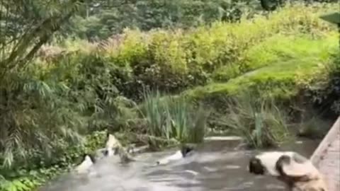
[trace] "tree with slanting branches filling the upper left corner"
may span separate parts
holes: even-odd
[[[25,66],[77,11],[79,0],[2,0],[0,78]]]

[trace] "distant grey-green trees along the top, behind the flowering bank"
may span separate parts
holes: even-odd
[[[124,28],[192,28],[214,21],[237,21],[254,1],[227,0],[94,0],[80,11],[65,33],[88,40],[106,39]],[[257,7],[256,7],[257,8]]]

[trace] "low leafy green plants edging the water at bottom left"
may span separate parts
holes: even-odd
[[[0,168],[1,191],[29,191],[35,190],[48,180],[72,170],[74,163],[80,162],[83,154],[91,153],[103,147],[106,141],[106,132],[93,132],[86,136],[84,143],[65,145],[60,152],[54,154],[55,161],[45,161],[45,156],[39,152],[28,159],[28,166],[13,166]],[[35,161],[38,160],[38,161]],[[37,166],[38,165],[38,166]]]

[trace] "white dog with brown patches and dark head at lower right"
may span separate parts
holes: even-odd
[[[272,151],[252,157],[249,173],[270,175],[291,191],[328,191],[323,175],[312,162],[293,151]]]

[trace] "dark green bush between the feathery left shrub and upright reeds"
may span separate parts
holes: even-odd
[[[122,122],[118,118],[128,115],[125,112],[134,106],[126,103],[129,100],[120,99],[118,90],[128,81],[130,71],[113,63],[99,47],[92,52],[69,54],[59,61],[50,65],[46,75],[69,88],[63,96],[77,104],[76,109],[86,121],[87,132],[119,130]]]

